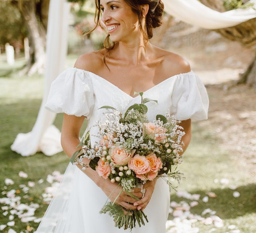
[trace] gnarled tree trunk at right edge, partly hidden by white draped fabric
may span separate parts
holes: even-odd
[[[224,12],[223,0],[200,0],[204,5],[213,10]],[[222,7],[221,7],[222,5]],[[215,29],[213,31],[221,34],[225,38],[238,41],[245,47],[252,47],[256,45],[256,18],[243,22],[237,26]],[[256,56],[252,63],[248,66],[247,70],[240,74],[237,84],[248,84],[249,86],[256,87]]]

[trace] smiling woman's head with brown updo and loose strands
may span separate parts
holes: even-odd
[[[153,37],[153,29],[162,25],[164,4],[161,0],[95,0],[95,5],[94,21],[96,25],[92,30],[85,32],[84,35],[93,32],[98,26],[108,33],[101,47],[101,49],[106,49],[103,57],[106,66],[105,59],[110,50],[115,47],[121,37],[131,37],[131,32],[136,31],[136,23],[138,23],[145,42]],[[143,13],[143,5],[148,5],[147,14]],[[116,22],[116,20],[119,22]],[[100,22],[105,24],[105,27]],[[121,32],[117,35],[117,31]]]

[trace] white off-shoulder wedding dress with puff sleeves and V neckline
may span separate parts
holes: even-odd
[[[141,90],[137,90],[141,91]],[[170,113],[179,120],[207,119],[209,99],[202,81],[193,72],[174,75],[144,92],[148,102],[148,119],[157,114]],[[135,98],[108,82],[104,78],[81,69],[68,68],[53,81],[46,108],[56,113],[86,116],[87,129],[91,127],[91,143],[98,138],[95,120],[104,117],[109,105],[124,113],[130,105],[140,103]],[[103,119],[104,120],[104,119]],[[85,132],[87,132],[87,129]],[[105,193],[75,165],[69,163],[60,187],[52,199],[38,229],[38,233],[120,233],[108,214],[99,214],[107,200]],[[170,193],[168,184],[161,178],[156,182],[152,198],[144,212],[149,222],[136,227],[133,233],[165,233],[168,218]]]

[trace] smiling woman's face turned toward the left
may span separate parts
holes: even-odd
[[[100,0],[102,23],[113,42],[128,42],[140,33],[138,16],[125,0]]]

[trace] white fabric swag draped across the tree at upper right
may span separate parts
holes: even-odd
[[[232,27],[256,18],[256,10],[253,8],[218,12],[198,0],[162,0],[162,2],[166,13],[185,23],[205,29]],[[249,2],[254,3],[256,8],[256,0]]]

